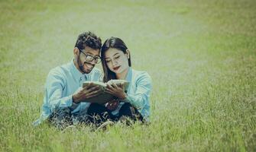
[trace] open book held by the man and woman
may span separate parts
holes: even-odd
[[[125,81],[125,80],[110,80],[106,83],[103,83],[103,82],[100,82],[100,81],[84,81],[83,82],[83,87],[86,87],[86,85],[89,85],[90,83],[99,85],[101,92],[99,93],[98,96],[91,97],[91,98],[89,98],[87,100],[84,100],[82,102],[105,104],[105,103],[115,99],[115,97],[112,96],[112,94],[109,94],[109,93],[105,92],[105,88],[107,87],[107,84],[116,84],[117,86],[120,86],[121,84],[124,84],[125,93],[127,92],[128,87],[129,87],[129,82]]]

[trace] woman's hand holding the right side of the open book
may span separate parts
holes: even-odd
[[[126,95],[124,84],[120,84],[120,86],[117,86],[116,84],[107,84],[105,92],[110,93],[115,97],[118,97],[119,100],[124,100]]]

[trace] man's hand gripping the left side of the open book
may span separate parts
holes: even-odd
[[[86,100],[91,97],[96,97],[100,93],[100,87],[96,84],[89,84],[83,87],[78,93],[73,94],[73,103],[79,103],[80,101]]]

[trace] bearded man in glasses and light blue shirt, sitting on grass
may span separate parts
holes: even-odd
[[[99,87],[90,84],[82,88],[82,84],[83,81],[99,81],[101,72],[94,67],[100,62],[101,46],[101,39],[94,33],[79,34],[73,60],[53,68],[47,76],[41,118],[34,125],[46,119],[57,128],[92,122],[86,114],[90,103],[81,101],[97,96]]]

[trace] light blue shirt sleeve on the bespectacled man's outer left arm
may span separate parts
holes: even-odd
[[[50,72],[45,84],[45,100],[51,111],[57,108],[72,106],[72,95],[63,97],[63,89],[66,86],[61,74]]]

